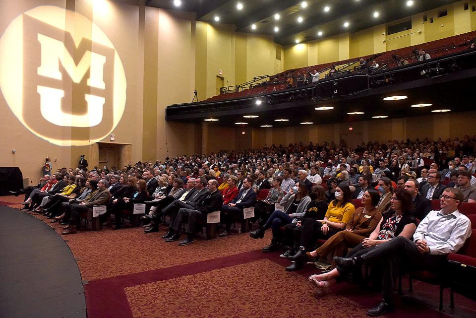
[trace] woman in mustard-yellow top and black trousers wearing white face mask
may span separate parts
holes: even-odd
[[[295,244],[299,245],[298,252],[288,258],[295,262],[287,271],[295,271],[304,267],[307,251],[314,250],[316,239],[329,239],[334,234],[344,230],[354,214],[355,207],[351,203],[352,193],[349,186],[340,184],[334,193],[336,199],[329,203],[323,219],[306,218],[300,231],[295,234]]]

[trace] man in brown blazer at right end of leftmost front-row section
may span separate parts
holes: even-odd
[[[89,208],[92,208],[95,205],[105,205],[109,202],[111,198],[111,193],[108,191],[109,183],[106,179],[101,179],[98,182],[98,190],[96,193],[91,195],[90,199],[85,199],[81,203],[70,204],[69,208],[71,215],[69,217],[69,223],[65,227],[64,231],[61,232],[61,235],[75,234],[76,233],[76,224],[78,222],[79,214],[81,212],[87,212]]]

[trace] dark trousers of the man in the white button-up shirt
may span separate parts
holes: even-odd
[[[442,273],[447,264],[447,255],[421,254],[416,249],[415,243],[403,236],[397,236],[370,249],[363,249],[359,244],[354,250],[350,256],[361,256],[372,268],[375,266],[380,269],[382,296],[387,302],[392,301],[397,278],[404,270],[430,269]],[[337,270],[341,273],[342,268],[337,266]]]

